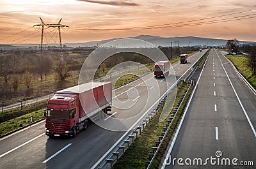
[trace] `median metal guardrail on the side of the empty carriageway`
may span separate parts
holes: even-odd
[[[156,147],[152,147],[153,152],[148,154],[150,160],[145,161],[145,168],[149,169],[152,166],[152,163],[153,163],[154,159],[156,158],[157,152],[159,151],[162,143],[164,142],[164,138],[166,137],[169,129],[171,128],[173,121],[174,121],[175,117],[177,116],[177,112],[179,112],[180,107],[181,107],[184,99],[186,98],[186,96],[188,94],[188,90],[192,84],[193,84],[193,80],[191,80],[190,84],[188,85],[188,87],[186,88],[184,93],[182,94],[182,98],[180,98],[179,102],[177,103],[176,107],[174,108],[174,110],[171,114],[171,117],[167,121],[168,123],[165,124],[165,128],[163,128],[163,131],[161,132],[161,136],[159,136],[159,138],[158,138],[159,140],[158,140],[158,142],[156,142]]]

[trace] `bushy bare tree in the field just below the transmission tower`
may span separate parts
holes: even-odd
[[[69,76],[69,68],[65,61],[56,61],[54,64],[55,77],[58,81],[64,81]]]

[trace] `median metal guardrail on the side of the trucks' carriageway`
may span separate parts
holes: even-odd
[[[122,143],[120,143],[120,145],[118,145],[118,147],[116,147],[114,151],[111,152],[108,158],[99,166],[99,169],[113,168],[114,163],[116,163],[118,159],[124,155],[125,151],[129,149],[131,143],[134,142],[134,139],[136,139],[138,135],[141,134],[141,131],[145,129],[145,127],[159,112],[159,110],[164,107],[166,99],[172,94],[172,92],[177,87],[177,85],[179,85],[179,83],[180,81],[177,82],[177,84],[174,85],[171,89],[166,91],[166,94],[164,94],[164,96],[159,99],[159,102],[148,112],[147,115],[145,115],[145,117],[140,121],[138,126],[129,133],[129,135],[124,139]]]

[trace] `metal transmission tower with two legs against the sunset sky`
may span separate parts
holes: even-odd
[[[58,22],[58,24],[45,24],[44,20],[42,20],[41,17],[39,17],[40,20],[41,20],[41,24],[36,24],[35,26],[40,26],[42,27],[42,33],[41,33],[41,45],[40,45],[40,50],[42,52],[43,50],[43,40],[44,40],[44,27],[58,27],[58,32],[59,32],[59,38],[60,38],[60,52],[61,52],[61,59],[63,59],[63,52],[62,52],[62,43],[61,43],[61,32],[60,32],[60,28],[62,27],[68,27],[68,26],[65,26],[63,24],[60,24],[61,22],[61,19],[60,18],[60,21]]]

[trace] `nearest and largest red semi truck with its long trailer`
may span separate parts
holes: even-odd
[[[88,118],[111,110],[112,83],[90,82],[54,92],[45,111],[45,134],[69,136],[88,128]]]

